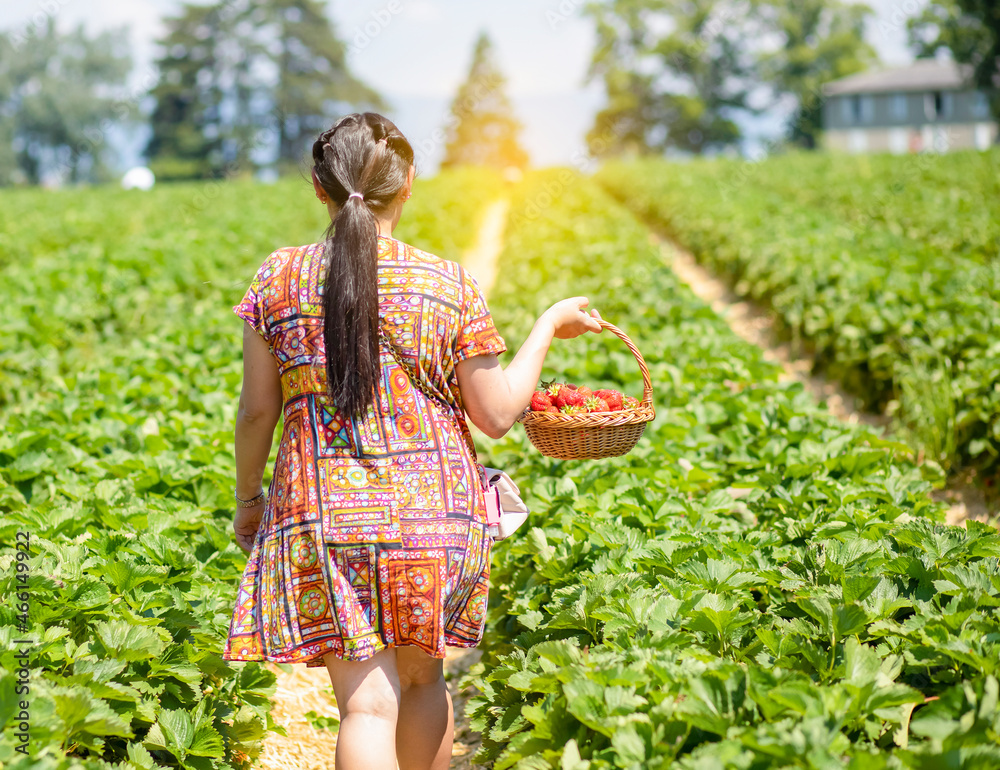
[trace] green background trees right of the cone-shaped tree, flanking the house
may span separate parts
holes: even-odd
[[[846,0],[609,0],[589,3],[597,27],[590,77],[607,106],[588,136],[598,155],[717,151],[740,118],[784,105],[784,141],[818,145],[823,85],[877,64],[864,33],[874,14]],[[973,65],[1000,121],[1000,4],[932,2],[905,20],[918,56],[947,51]]]

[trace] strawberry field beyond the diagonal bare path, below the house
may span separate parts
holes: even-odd
[[[602,184],[772,308],[928,459],[1000,472],[1000,152],[614,165]]]

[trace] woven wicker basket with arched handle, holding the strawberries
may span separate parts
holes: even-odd
[[[590,414],[552,414],[530,412],[521,415],[520,422],[535,449],[557,460],[599,460],[618,457],[630,452],[639,442],[646,423],[656,416],[653,409],[653,383],[649,378],[642,353],[621,329],[601,321],[628,346],[639,362],[642,372],[642,401],[634,409],[620,412],[593,412]]]

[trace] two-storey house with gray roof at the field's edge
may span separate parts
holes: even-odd
[[[823,141],[842,152],[985,150],[997,141],[989,99],[970,86],[972,69],[917,59],[824,87]]]

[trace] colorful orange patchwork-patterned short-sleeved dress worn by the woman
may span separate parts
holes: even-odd
[[[223,657],[323,665],[413,645],[474,647],[491,540],[455,366],[506,349],[459,265],[379,237],[379,312],[430,399],[385,349],[378,407],[327,396],[323,244],[284,248],[234,308],[278,361],[284,429]]]

